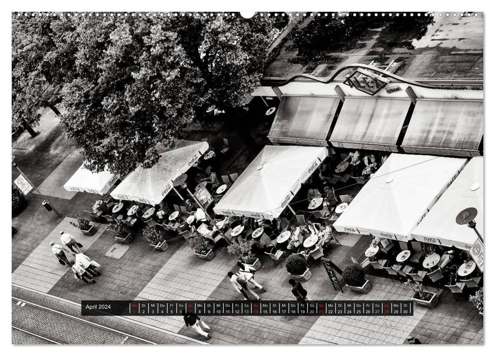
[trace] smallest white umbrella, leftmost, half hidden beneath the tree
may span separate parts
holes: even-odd
[[[118,178],[118,175],[107,170],[93,173],[84,168],[83,163],[64,184],[64,189],[69,192],[88,192],[103,195],[109,191]]]

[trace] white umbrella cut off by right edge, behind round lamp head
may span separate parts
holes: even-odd
[[[467,207],[478,210],[476,228],[483,235],[483,157],[474,157],[412,231],[415,240],[469,250],[478,236],[467,225],[458,225],[457,214]]]

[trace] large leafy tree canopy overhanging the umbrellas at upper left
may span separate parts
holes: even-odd
[[[30,89],[28,100],[28,86],[50,84],[88,168],[121,175],[156,163],[155,145],[172,144],[212,101],[242,106],[278,31],[266,16],[102,15],[14,17],[12,46],[22,55],[13,56],[13,91],[26,105],[42,89]],[[31,115],[20,101],[13,94],[13,111]]]

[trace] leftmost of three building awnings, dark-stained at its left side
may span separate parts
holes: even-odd
[[[328,146],[338,97],[282,96],[268,138],[272,143]]]

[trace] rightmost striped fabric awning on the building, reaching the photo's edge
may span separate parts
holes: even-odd
[[[418,99],[402,141],[405,152],[479,156],[483,101]]]

